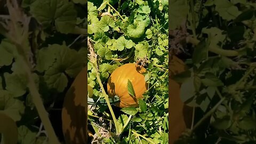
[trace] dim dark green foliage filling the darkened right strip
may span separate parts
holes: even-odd
[[[188,40],[175,32],[170,46],[181,50],[175,41],[192,50],[185,53],[188,71],[174,79],[182,83],[182,101],[198,108],[192,131],[177,143],[255,143],[255,3],[170,3],[171,33],[186,33]]]

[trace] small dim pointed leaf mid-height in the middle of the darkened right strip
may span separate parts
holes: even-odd
[[[206,73],[205,78],[201,79],[202,83],[206,86],[223,86],[221,80],[212,73]]]

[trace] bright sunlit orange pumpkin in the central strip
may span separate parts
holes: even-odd
[[[148,83],[142,75],[147,70],[137,66],[135,63],[126,63],[125,65],[116,68],[110,75],[107,83],[108,95],[114,98],[117,95],[120,102],[116,103],[117,107],[138,107],[138,101],[142,98],[142,94],[148,88]],[[127,83],[131,81],[135,97],[129,94]]]

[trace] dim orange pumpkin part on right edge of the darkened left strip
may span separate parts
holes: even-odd
[[[87,67],[69,87],[62,108],[62,131],[66,143],[87,142]]]

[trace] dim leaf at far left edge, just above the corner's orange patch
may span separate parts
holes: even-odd
[[[0,90],[0,111],[17,122],[20,121],[21,115],[25,111],[25,106],[22,101],[15,99],[11,92]]]

